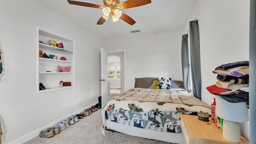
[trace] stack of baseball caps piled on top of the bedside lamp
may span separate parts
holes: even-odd
[[[222,64],[212,71],[217,82],[206,89],[229,102],[247,102],[249,105],[249,61]]]

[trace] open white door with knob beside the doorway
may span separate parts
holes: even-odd
[[[101,106],[102,108],[106,105],[110,99],[109,88],[108,88],[108,53],[106,50],[101,48]]]

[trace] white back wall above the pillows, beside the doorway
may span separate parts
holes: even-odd
[[[125,49],[126,90],[134,88],[135,78],[169,77],[182,80],[181,68],[182,30],[150,33],[146,35],[115,37],[104,39],[106,50]],[[130,71],[129,73],[127,71]]]

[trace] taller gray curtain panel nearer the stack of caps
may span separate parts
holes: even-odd
[[[200,66],[200,45],[198,20],[189,22],[190,30],[190,57],[193,94],[201,100],[201,66]]]

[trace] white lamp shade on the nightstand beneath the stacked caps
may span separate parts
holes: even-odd
[[[216,116],[232,122],[248,122],[246,102],[228,102],[216,95]]]

